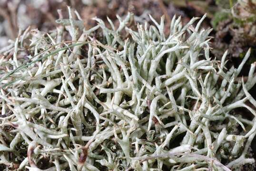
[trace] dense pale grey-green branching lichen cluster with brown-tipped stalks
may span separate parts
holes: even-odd
[[[0,163],[30,171],[230,171],[253,163],[256,116],[240,66],[209,57],[206,17],[128,27],[133,15],[91,29],[20,31],[0,50]],[[61,16],[61,15],[60,15]],[[81,20],[81,19],[80,19]],[[94,32],[97,36],[93,36]],[[126,38],[125,38],[126,37]],[[128,38],[129,37],[129,38]],[[241,128],[243,131],[237,131]],[[48,161],[42,166],[41,161]],[[45,168],[46,167],[46,168]],[[43,168],[43,169],[42,169]]]

